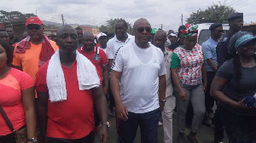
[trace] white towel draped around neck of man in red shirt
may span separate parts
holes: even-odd
[[[76,54],[79,90],[99,87],[100,79],[97,75],[96,67],[83,54],[79,54],[78,50]],[[51,102],[67,100],[66,82],[61,67],[59,49],[56,50],[49,60],[46,83]]]

